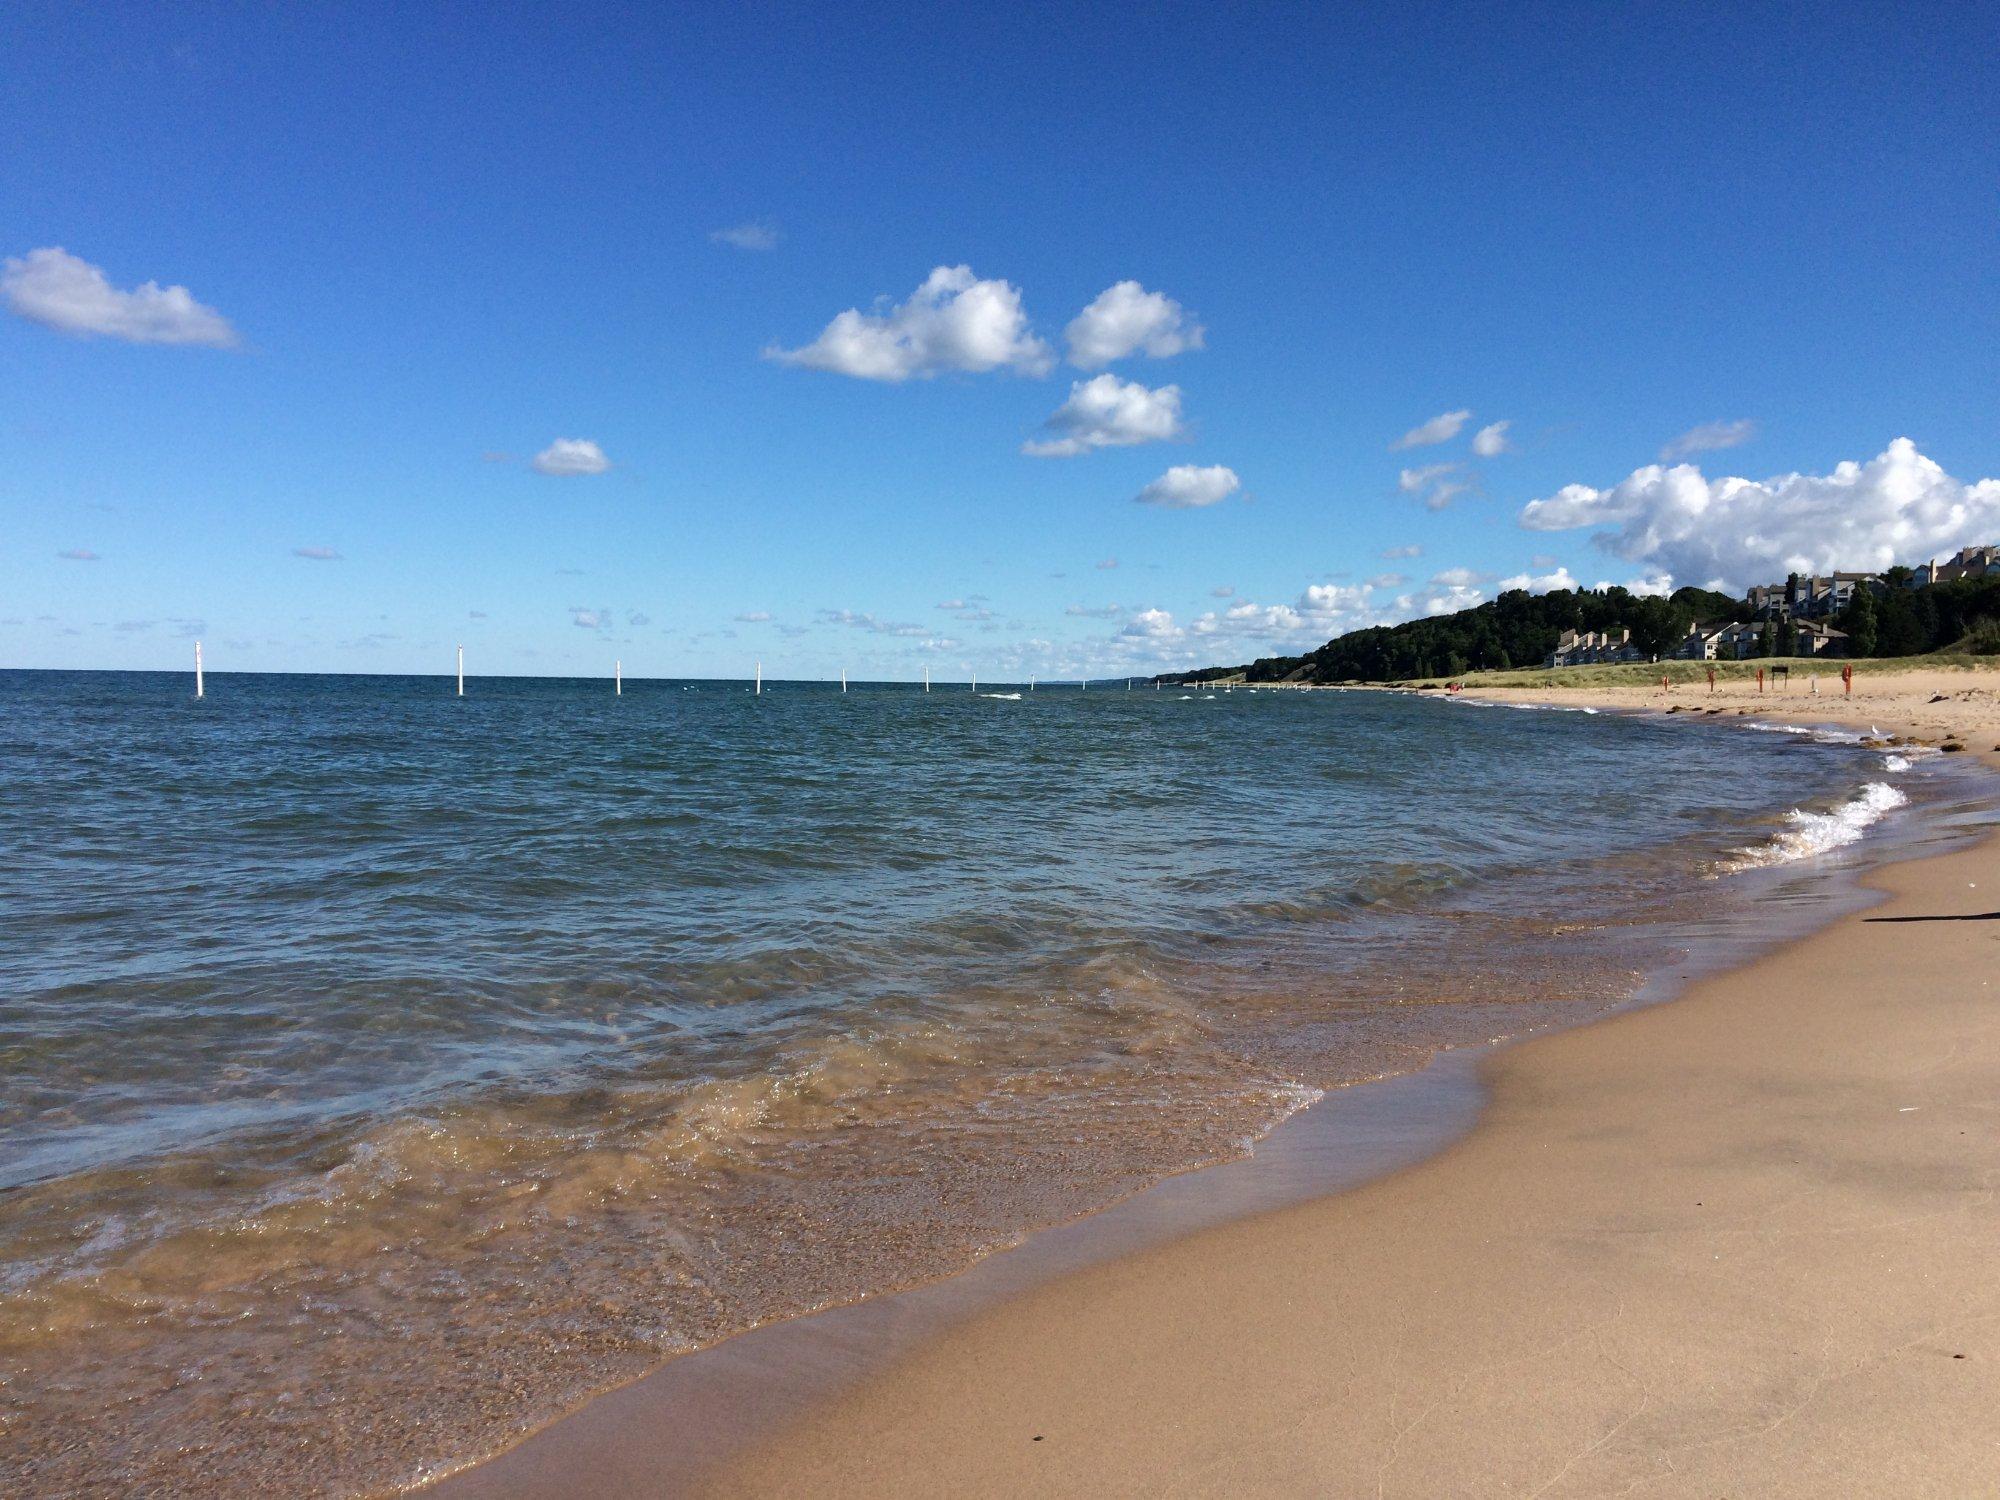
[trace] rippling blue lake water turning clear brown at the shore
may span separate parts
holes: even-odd
[[[0,674],[0,1488],[488,1452],[1616,1004],[1938,800],[1892,764],[1384,694]]]

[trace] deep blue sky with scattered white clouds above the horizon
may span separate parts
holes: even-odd
[[[2000,8],[8,32],[0,666],[1120,676],[2000,542]]]

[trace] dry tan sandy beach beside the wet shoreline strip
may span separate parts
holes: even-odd
[[[1522,696],[1868,722],[1992,760],[1984,676],[1824,688]],[[1870,884],[1880,906],[1672,1004],[1500,1050],[1476,1128],[1430,1160],[1028,1290],[694,1488],[2000,1490],[2000,840]],[[628,1404],[590,1460],[470,1492],[682,1492],[634,1462],[674,1416]]]

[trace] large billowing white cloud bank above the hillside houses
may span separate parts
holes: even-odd
[[[1708,480],[1694,464],[1634,470],[1610,490],[1566,484],[1532,500],[1536,532],[1604,526],[1592,542],[1652,576],[1730,588],[1788,572],[1874,570],[1924,562],[2000,538],[2000,478],[1962,482],[1896,438],[1832,474]]]

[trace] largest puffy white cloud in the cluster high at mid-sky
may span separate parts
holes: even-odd
[[[876,312],[848,308],[804,348],[764,358],[860,380],[900,382],[940,370],[1048,374],[1054,350],[1028,326],[1020,292],[982,282],[970,266],[938,266],[908,302]]]

